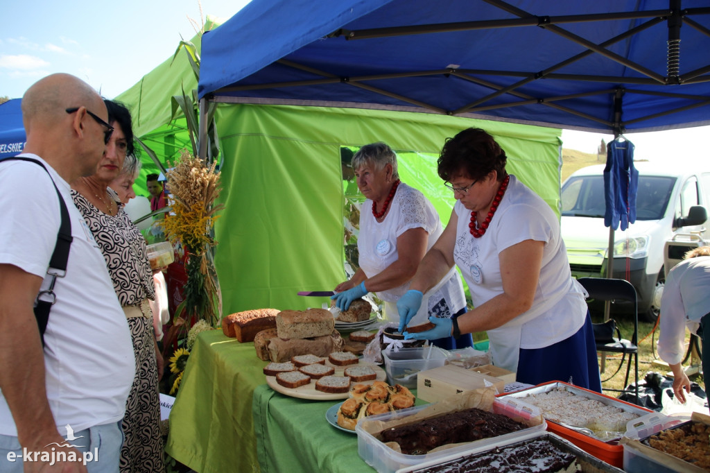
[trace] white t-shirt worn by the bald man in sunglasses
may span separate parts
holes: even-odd
[[[70,186],[42,163],[51,179],[35,163],[0,162],[0,263],[45,277],[61,221],[54,180],[69,211],[73,238],[67,274],[55,283],[57,301],[44,335],[47,397],[63,435],[67,424],[77,431],[123,418],[136,361],[104,256],[72,202]],[[42,289],[47,287],[45,278]],[[0,434],[17,435],[1,393]]]

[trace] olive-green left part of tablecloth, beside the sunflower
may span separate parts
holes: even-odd
[[[200,473],[258,472],[251,396],[263,366],[253,343],[200,333],[170,412],[168,454]]]

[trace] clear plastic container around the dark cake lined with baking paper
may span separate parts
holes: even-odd
[[[355,428],[355,432],[357,433],[357,450],[360,457],[379,473],[394,473],[401,468],[411,467],[423,462],[441,460],[450,455],[460,455],[463,452],[470,452],[475,449],[492,448],[526,440],[544,433],[545,428],[547,428],[547,423],[545,420],[542,420],[540,411],[537,408],[513,398],[496,398],[495,401],[493,401],[493,412],[507,415],[508,417],[519,417],[523,418],[523,420],[528,419],[531,424],[535,424],[536,421],[540,422],[540,420],[541,423],[519,430],[518,432],[468,442],[458,447],[449,448],[442,452],[430,453],[428,455],[405,455],[395,452],[383,442],[373,437],[373,435],[368,433],[364,428],[369,423],[388,422],[390,420],[415,415],[429,406],[432,406],[432,404],[372,415],[360,420]]]

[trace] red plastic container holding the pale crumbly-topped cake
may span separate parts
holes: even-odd
[[[533,388],[528,388],[523,391],[503,394],[502,396],[513,396],[515,398],[520,398],[522,401],[525,401],[525,396],[528,396],[529,394],[546,393],[547,391],[552,391],[559,388],[570,391],[571,393],[574,393],[577,396],[584,396],[586,398],[594,399],[595,401],[599,401],[603,404],[606,404],[607,406],[620,408],[622,411],[638,414],[639,418],[652,412],[646,408],[620,401],[617,398],[605,396],[604,394],[589,391],[589,389],[580,388],[579,386],[567,384],[562,381],[551,381],[549,383],[539,384]],[[543,412],[542,415],[545,415],[545,413]],[[562,427],[562,425],[559,425],[558,423],[555,423],[552,420],[547,421],[547,426],[547,430],[549,430],[550,432],[556,433],[560,437],[569,440],[585,452],[588,452],[591,455],[594,455],[594,457],[599,458],[599,460],[603,460],[604,462],[612,464],[613,466],[618,468],[623,467],[623,447],[619,445],[621,435],[617,438],[603,441],[596,437],[579,433],[576,430]]]

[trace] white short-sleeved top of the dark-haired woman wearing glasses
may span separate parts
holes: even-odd
[[[525,240],[545,242],[532,307],[503,325],[523,322],[520,348],[548,347],[574,335],[584,325],[584,290],[569,270],[557,215],[540,196],[510,175],[506,194],[481,238],[469,232],[471,211],[460,201],[454,211],[458,216],[454,261],[469,285],[474,307],[503,293],[498,259],[501,251]],[[488,332],[490,335],[493,330]]]

